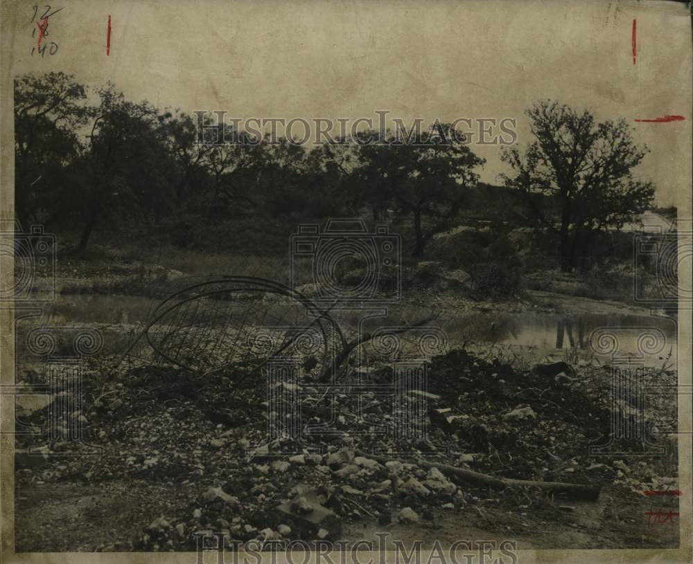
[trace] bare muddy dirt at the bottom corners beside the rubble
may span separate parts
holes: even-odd
[[[188,507],[181,489],[147,481],[34,485],[21,489],[16,503],[17,552],[132,549],[132,539],[148,523]],[[678,511],[671,498],[660,504],[607,489],[598,502],[571,504],[572,511],[513,511],[479,502],[474,508],[431,511],[429,519],[416,524],[349,522],[341,538],[373,540],[377,545],[376,533],[387,532],[394,540],[421,538],[424,547],[432,538],[444,546],[459,539],[516,540],[519,549],[678,546],[678,518],[658,523],[645,515],[659,507]]]

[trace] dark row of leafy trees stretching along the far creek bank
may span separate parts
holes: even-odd
[[[64,73],[23,75],[15,80],[17,218],[78,230],[83,249],[100,229],[166,224],[185,245],[185,226],[367,213],[404,224],[405,252],[421,257],[472,210],[555,233],[561,267],[572,270],[584,266],[595,233],[651,206],[653,186],[633,177],[647,148],[624,120],[599,123],[558,102],[527,115],[534,140],[502,154],[514,172],[490,186],[479,182],[484,159],[447,123],[407,138],[366,130],[306,147],[203,118],[200,143],[199,116],[126,100],[113,84],[90,92]]]

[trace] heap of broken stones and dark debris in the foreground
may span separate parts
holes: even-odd
[[[85,417],[88,435],[78,448],[99,455],[44,457],[19,469],[18,480],[126,477],[189,492],[184,511],[143,522],[141,537],[130,539],[148,550],[195,549],[219,533],[229,542],[339,538],[349,521],[435,526],[441,511],[488,498],[487,488],[424,460],[525,480],[661,483],[663,470],[650,464],[590,456],[610,430],[608,374],[591,365],[577,374],[567,385],[456,350],[432,360],[419,388],[398,388],[388,365],[353,370],[335,385],[278,383],[290,392],[288,409],[267,401],[259,375],[240,387],[230,372],[200,379],[143,367],[87,386],[87,411],[76,417]],[[40,426],[46,413],[31,422]],[[68,448],[76,447],[50,445]]]

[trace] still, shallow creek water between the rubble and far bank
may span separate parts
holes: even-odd
[[[108,327],[139,326],[146,322],[157,303],[128,295],[59,295],[54,302],[42,305],[42,316],[37,319],[44,327],[84,324],[106,329],[107,340]],[[279,319],[287,317],[289,308],[286,304],[268,304],[266,309]],[[578,352],[598,357],[640,356],[646,365],[676,361],[676,320],[672,318],[630,313],[515,313],[504,312],[500,306],[499,310],[451,310],[435,325],[444,334],[448,347],[506,347],[537,359],[561,358],[566,353]],[[419,316],[416,311],[407,311],[410,320],[426,315],[423,310]],[[340,323],[355,325],[356,318],[358,314],[351,312],[349,319],[342,318]],[[398,325],[385,320],[379,323]]]

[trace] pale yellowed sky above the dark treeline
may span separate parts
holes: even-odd
[[[52,10],[61,7],[44,39],[58,51],[40,57],[31,55],[31,3],[13,5],[12,75],[64,71],[90,87],[112,81],[132,100],[236,118],[354,120],[376,110],[405,122],[516,118],[520,147],[531,140],[525,109],[550,98],[631,122],[651,151],[636,174],[656,184],[656,203],[681,208],[690,197],[691,33],[682,5],[63,0]],[[665,115],[685,120],[634,121]],[[472,149],[487,161],[482,181],[498,183],[508,172],[500,148]]]

